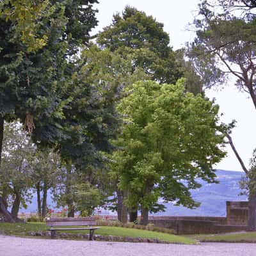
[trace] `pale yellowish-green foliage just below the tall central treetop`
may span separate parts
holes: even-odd
[[[132,67],[132,58],[122,58],[122,54],[100,49],[90,44],[81,55],[83,67],[81,72],[86,74],[86,81],[93,84],[103,95],[111,93],[109,99],[120,96],[122,88],[129,87],[136,81],[149,79],[142,68]],[[85,77],[84,77],[85,78]]]

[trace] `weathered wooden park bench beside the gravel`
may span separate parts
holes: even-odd
[[[58,230],[90,230],[89,240],[93,241],[94,230],[99,229],[100,227],[92,227],[97,225],[93,217],[86,218],[49,218],[46,220],[46,225],[50,226],[48,230],[51,231],[51,238],[57,236]],[[67,226],[87,226],[87,227],[72,227],[72,228],[63,228]],[[55,228],[58,227],[58,228]]]

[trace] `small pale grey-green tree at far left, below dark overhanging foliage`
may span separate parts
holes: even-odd
[[[0,195],[4,205],[12,207],[17,220],[20,206],[26,207],[33,185],[32,159],[36,147],[18,122],[4,124],[3,156],[0,172]]]

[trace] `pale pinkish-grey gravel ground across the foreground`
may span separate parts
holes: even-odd
[[[255,256],[256,244],[111,243],[0,236],[0,256]]]

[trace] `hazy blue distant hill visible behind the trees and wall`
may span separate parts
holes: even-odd
[[[216,175],[220,183],[207,184],[202,181],[202,187],[191,191],[196,202],[201,202],[200,207],[191,210],[182,206],[175,206],[172,203],[164,204],[165,212],[158,212],[156,215],[176,215],[176,216],[225,216],[226,201],[247,200],[246,196],[240,196],[239,181],[243,172],[232,172],[227,170],[217,170]],[[54,209],[54,202],[51,195],[48,196],[49,208]],[[21,209],[20,212],[36,212],[36,196],[33,197],[32,203],[28,209]],[[102,214],[113,214],[102,210]]]

